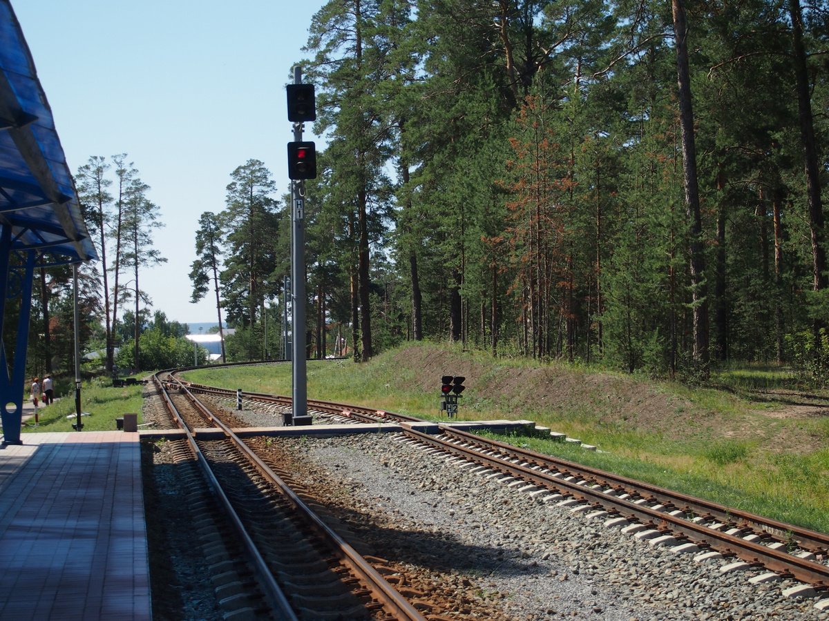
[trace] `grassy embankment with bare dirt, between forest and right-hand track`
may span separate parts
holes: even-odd
[[[290,369],[277,363],[187,377],[290,395]],[[503,440],[829,532],[829,394],[790,388],[777,368],[724,372],[718,388],[688,388],[422,344],[366,364],[308,361],[308,397],[437,419],[440,376],[449,373],[467,378],[461,420],[530,419],[603,452]]]

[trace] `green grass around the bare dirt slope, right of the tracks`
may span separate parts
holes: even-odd
[[[429,347],[429,345],[426,345]],[[439,396],[419,388],[422,369],[395,363],[394,353],[383,354],[371,363],[351,361],[308,361],[308,397],[326,401],[368,405],[439,419]],[[475,363],[486,363],[482,354],[471,354]],[[512,367],[512,361],[488,361],[478,378]],[[517,368],[541,366],[516,361]],[[289,395],[291,366],[277,363],[256,368],[204,369],[187,373],[194,382],[254,392]],[[744,378],[751,378],[750,382]],[[550,440],[511,437],[507,441],[533,450],[559,455],[585,465],[608,469],[669,489],[773,517],[820,532],[829,532],[829,449],[806,453],[778,441],[797,431],[818,439],[829,439],[829,418],[780,420],[760,416],[757,411],[779,407],[773,398],[762,402],[741,391],[747,387],[790,388],[790,375],[776,368],[751,368],[741,373],[730,369],[718,383],[737,378],[733,385],[716,389],[688,388],[674,383],[654,383],[652,388],[676,397],[674,412],[683,415],[681,432],[671,437],[638,427],[629,421],[608,420],[591,407],[579,405],[570,411],[536,412],[511,409],[501,396],[464,393],[461,420],[531,419],[568,436],[597,445],[604,452],[581,450]],[[725,379],[724,379],[725,378]],[[473,394],[469,394],[473,392]],[[685,404],[685,405],[683,405]],[[692,408],[689,414],[686,408]],[[445,419],[444,419],[445,420]],[[720,427],[717,427],[717,424]],[[756,439],[725,437],[723,428],[756,427]],[[827,443],[823,443],[827,445]]]

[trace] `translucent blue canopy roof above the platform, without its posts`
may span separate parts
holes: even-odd
[[[0,224],[12,249],[54,262],[98,258],[35,63],[9,0],[0,0]]]

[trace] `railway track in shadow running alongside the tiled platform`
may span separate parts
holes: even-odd
[[[173,378],[158,378],[158,388],[254,568],[228,579],[242,609],[275,619],[425,619],[226,421]]]

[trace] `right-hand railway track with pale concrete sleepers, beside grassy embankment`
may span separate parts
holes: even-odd
[[[235,394],[197,384],[191,388],[216,397]],[[252,402],[290,407],[289,397],[255,392],[242,395]],[[394,412],[311,399],[308,408],[357,422],[421,421]],[[444,451],[448,458],[465,462],[464,467],[470,471],[500,475],[507,484],[536,493],[545,502],[559,503],[574,513],[605,517],[608,525],[623,528],[652,545],[694,554],[695,558],[733,556],[739,561],[730,565],[730,570],[765,567],[768,572],[759,576],[758,582],[792,576],[818,592],[829,590],[829,536],[825,533],[524,450],[445,424],[439,427],[437,436],[413,429],[402,433],[410,442]]]

